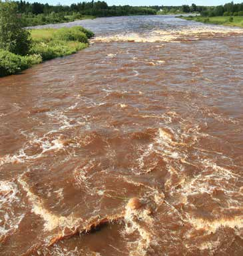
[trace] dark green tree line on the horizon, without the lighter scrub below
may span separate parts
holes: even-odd
[[[218,5],[216,7],[198,6],[192,3],[182,6],[141,6],[133,7],[129,5],[124,6],[108,6],[105,1],[91,1],[73,3],[69,5],[49,5],[48,3],[29,3],[28,1],[16,1],[19,13],[23,14],[51,14],[63,13],[64,15],[71,15],[79,13],[81,15],[93,15],[96,17],[119,16],[119,15],[153,15],[158,11],[164,13],[201,13],[202,16],[222,16],[222,15],[242,15],[243,3],[226,3],[225,5]]]

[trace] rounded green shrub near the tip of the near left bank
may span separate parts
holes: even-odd
[[[63,27],[58,29],[54,34],[55,39],[59,39],[62,41],[79,41],[81,43],[88,43],[87,35],[79,31],[77,27]]]

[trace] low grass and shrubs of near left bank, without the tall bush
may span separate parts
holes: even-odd
[[[17,74],[45,60],[71,55],[89,45],[94,33],[81,26],[30,30],[32,47],[28,55],[0,49],[0,77]]]

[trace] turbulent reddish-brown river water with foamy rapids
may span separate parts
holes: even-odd
[[[0,79],[0,254],[243,255],[243,29],[71,25],[89,48]]]

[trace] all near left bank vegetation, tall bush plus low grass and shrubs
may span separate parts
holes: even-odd
[[[0,2],[0,76],[16,74],[41,63],[84,49],[93,32],[83,27],[23,29],[17,5]]]

